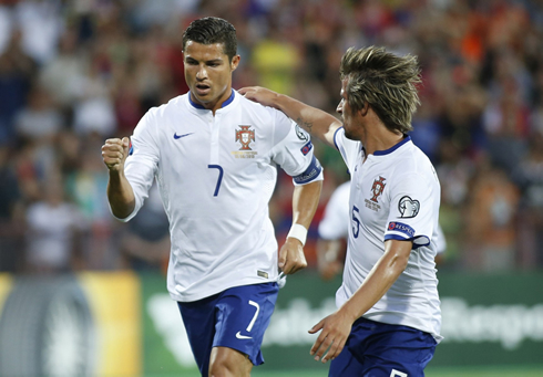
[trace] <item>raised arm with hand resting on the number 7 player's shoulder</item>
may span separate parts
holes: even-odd
[[[335,148],[334,134],[336,133],[336,129],[341,127],[341,122],[335,116],[265,87],[242,87],[238,93],[264,106],[270,106],[281,111],[311,136],[318,137],[324,143]]]

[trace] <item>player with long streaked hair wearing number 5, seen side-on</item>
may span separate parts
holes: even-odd
[[[416,56],[383,48],[341,59],[341,122],[265,88],[239,93],[283,111],[336,147],[351,175],[350,227],[338,310],[315,325],[310,354],[329,376],[423,376],[441,341],[434,256],[440,185],[411,142]]]

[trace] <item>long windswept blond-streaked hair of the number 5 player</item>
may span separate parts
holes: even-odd
[[[420,69],[414,55],[399,56],[385,48],[350,48],[341,57],[341,80],[347,78],[349,106],[360,111],[368,103],[390,130],[412,130],[412,114],[420,105],[417,84]]]

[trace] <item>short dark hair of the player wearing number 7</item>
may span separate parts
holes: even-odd
[[[230,62],[237,54],[236,28],[218,17],[205,17],[191,22],[183,33],[183,51],[188,41],[201,44],[222,43],[223,52]]]

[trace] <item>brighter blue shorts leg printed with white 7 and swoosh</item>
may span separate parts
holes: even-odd
[[[260,352],[277,300],[277,283],[244,285],[223,292],[217,303],[213,347],[228,347],[264,363]]]

